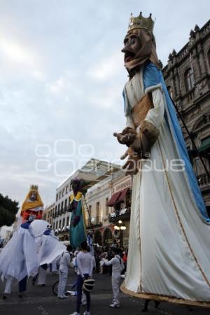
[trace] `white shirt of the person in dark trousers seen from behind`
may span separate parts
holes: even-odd
[[[92,276],[92,255],[90,253],[83,253],[80,251],[76,256],[77,262],[77,274],[84,276],[84,274],[89,274]]]

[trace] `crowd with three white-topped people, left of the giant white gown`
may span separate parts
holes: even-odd
[[[73,252],[72,249],[72,246],[68,245],[61,257],[57,258],[57,266],[59,265],[57,297],[59,299],[67,297],[65,288],[68,268],[73,267],[77,274],[76,283],[73,285],[77,292],[76,311],[71,315],[79,314],[80,304],[87,305],[84,314],[90,315],[90,292],[94,286],[93,272],[111,275],[113,300],[110,307],[120,307],[120,277],[125,276],[126,272],[127,248],[120,248],[116,242],[113,242],[111,246],[96,246],[92,255],[91,248],[85,241],[80,248],[76,248],[76,251]]]

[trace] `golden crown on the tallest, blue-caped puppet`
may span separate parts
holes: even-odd
[[[127,31],[131,31],[132,29],[148,29],[149,31],[153,31],[155,22],[152,20],[151,17],[152,14],[150,14],[148,18],[144,18],[144,16],[142,16],[142,12],[140,12],[139,16],[137,16],[137,18],[134,18],[131,13]]]

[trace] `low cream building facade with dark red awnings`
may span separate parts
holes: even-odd
[[[131,186],[131,177],[119,170],[88,190],[86,227],[94,233],[94,243],[109,246],[116,240],[119,245],[128,245]],[[123,230],[116,230],[119,221]]]

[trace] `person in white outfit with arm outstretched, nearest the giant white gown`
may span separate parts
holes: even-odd
[[[120,274],[125,267],[123,259],[119,255],[119,248],[113,247],[112,252],[114,257],[111,260],[106,260],[103,258],[104,264],[106,266],[112,265],[111,285],[113,291],[113,301],[109,306],[120,307]]]

